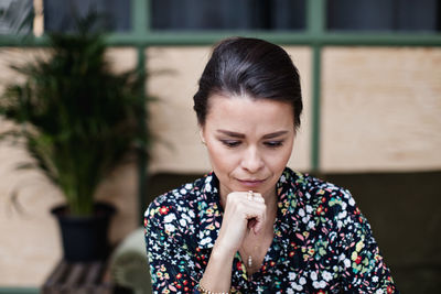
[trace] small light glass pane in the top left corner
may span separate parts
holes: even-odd
[[[0,34],[28,34],[32,23],[33,0],[0,1]]]

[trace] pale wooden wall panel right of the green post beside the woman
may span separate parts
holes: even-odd
[[[325,48],[322,170],[440,170],[440,48]]]

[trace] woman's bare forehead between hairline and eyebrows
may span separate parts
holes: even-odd
[[[273,132],[294,127],[289,102],[249,96],[213,95],[205,127],[237,132]]]

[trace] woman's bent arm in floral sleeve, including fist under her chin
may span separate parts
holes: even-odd
[[[200,276],[191,246],[179,226],[179,214],[169,206],[152,203],[146,213],[146,243],[154,293],[198,293],[198,284],[211,292],[228,292],[232,264],[247,230],[259,233],[265,220],[266,206],[260,194],[249,202],[247,193],[228,195],[219,236],[212,250],[207,266]],[[252,221],[249,221],[252,219]]]

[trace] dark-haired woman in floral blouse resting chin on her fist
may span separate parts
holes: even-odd
[[[398,293],[351,194],[286,167],[299,79],[275,44],[214,48],[194,96],[213,172],[146,211],[155,293]]]

